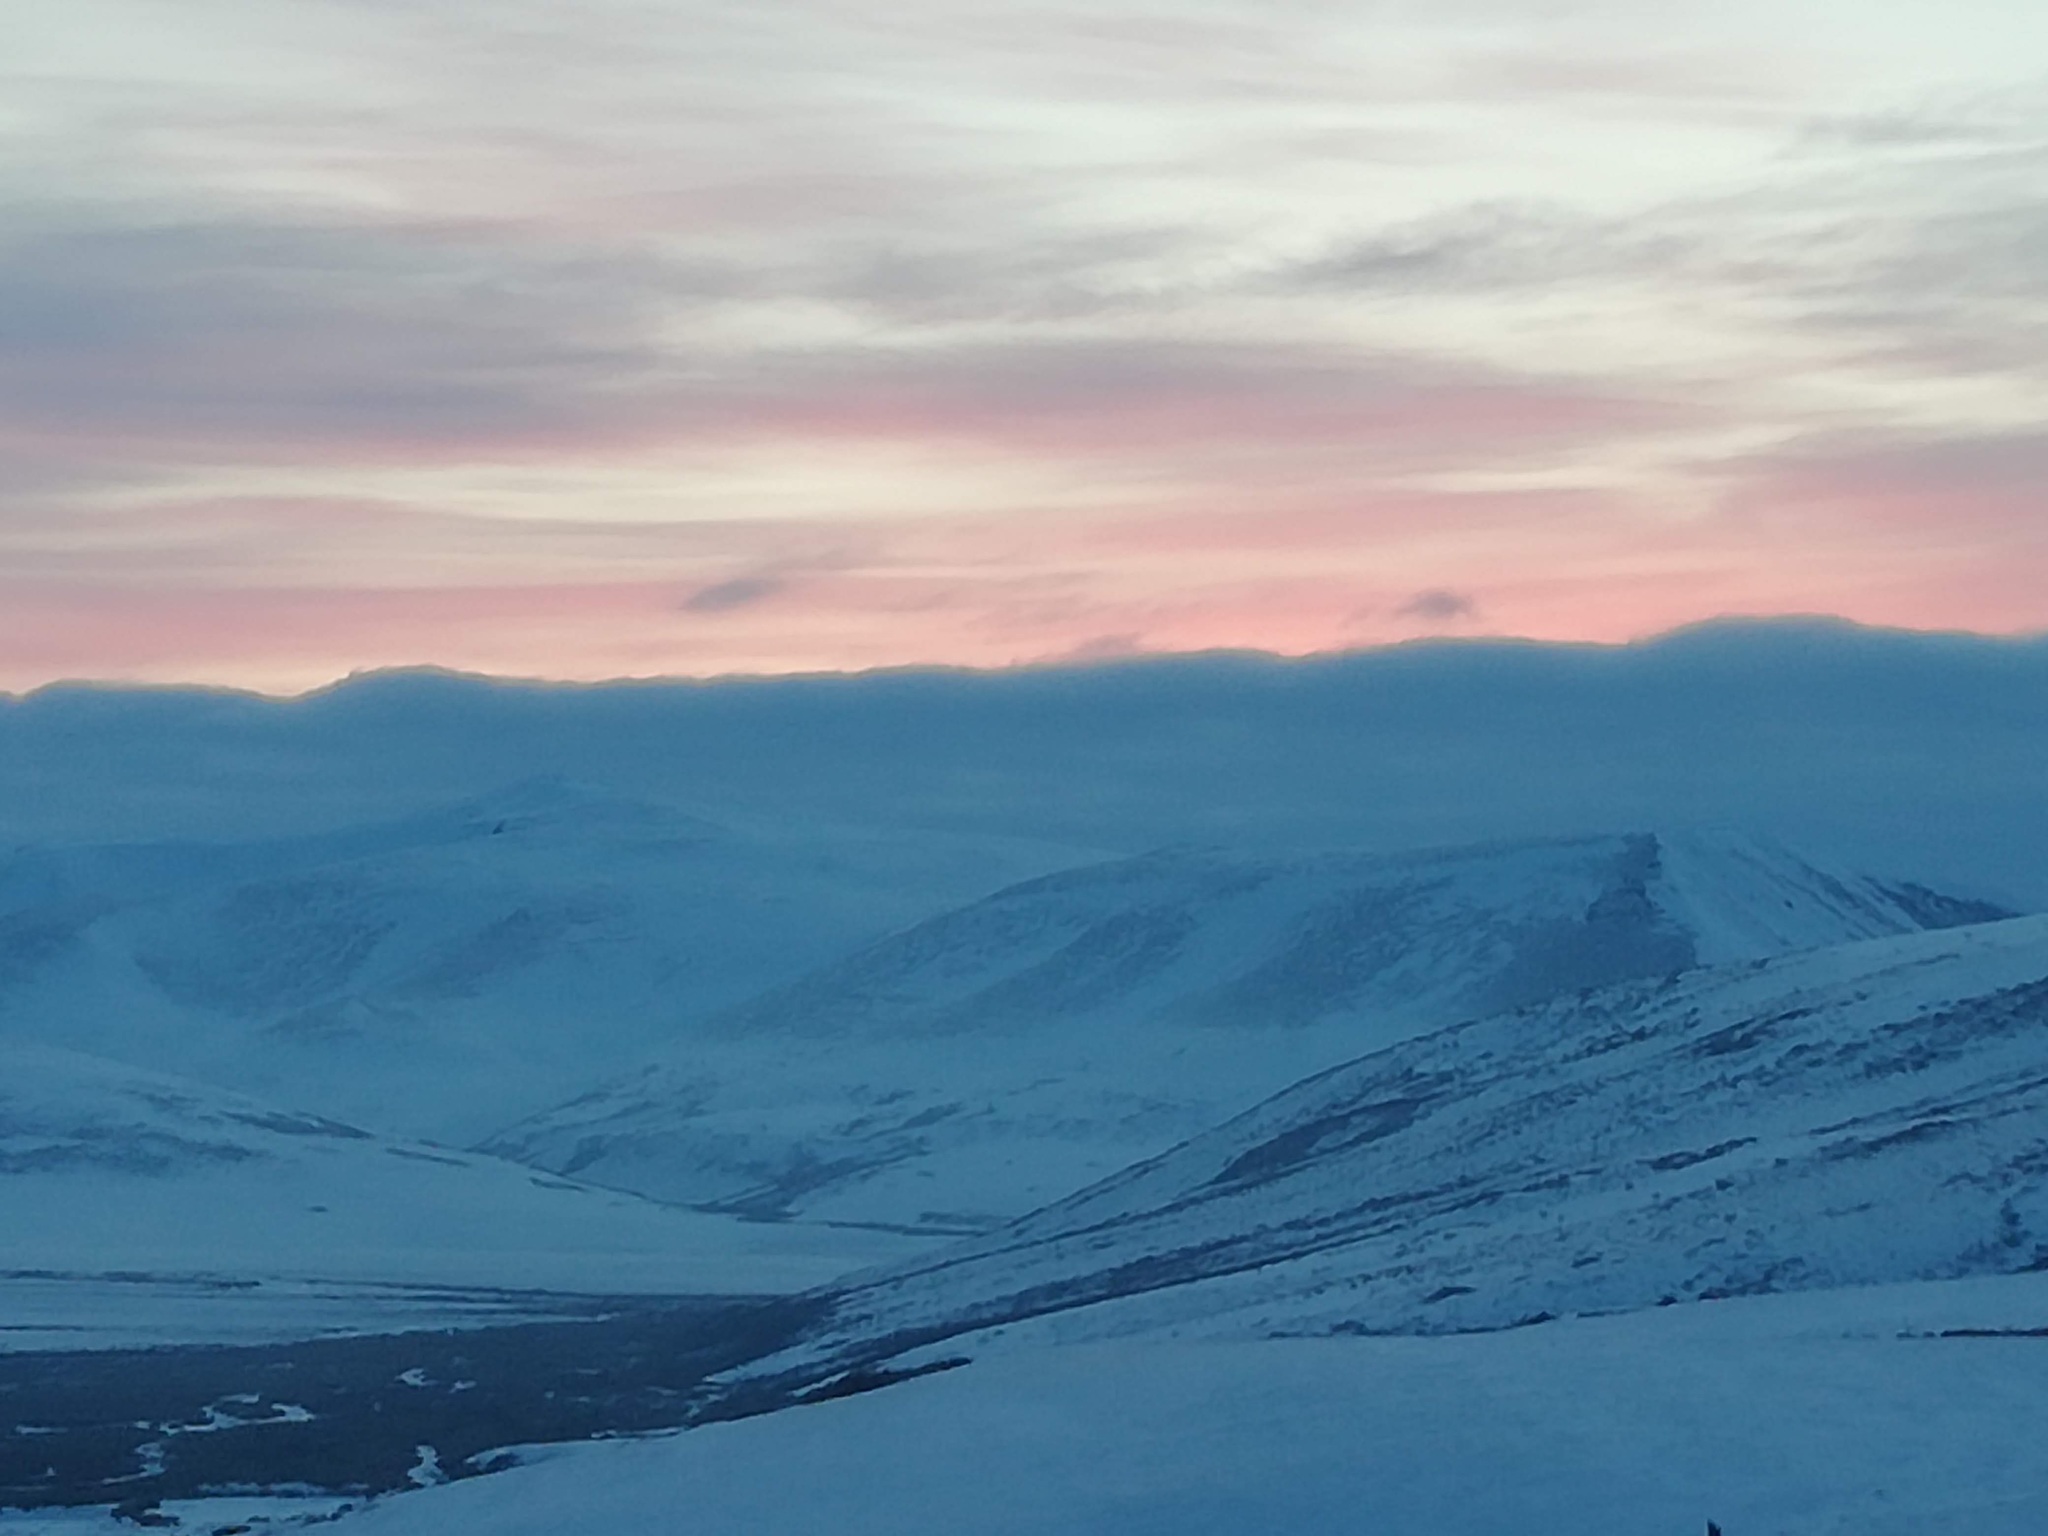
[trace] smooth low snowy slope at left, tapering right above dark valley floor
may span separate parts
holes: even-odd
[[[117,1276],[129,1307],[150,1305],[152,1276],[778,1292],[903,1251],[901,1239],[674,1210],[190,1079],[0,1044],[0,1296],[66,1276],[88,1290]]]

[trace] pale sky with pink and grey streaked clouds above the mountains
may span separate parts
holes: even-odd
[[[2048,627],[2040,0],[0,31],[0,688]]]

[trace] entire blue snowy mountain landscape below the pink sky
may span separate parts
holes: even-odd
[[[0,1536],[2032,1534],[2044,760],[1815,623],[0,698]]]

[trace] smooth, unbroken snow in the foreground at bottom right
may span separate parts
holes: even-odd
[[[2038,1536],[2048,1339],[1933,1335],[2042,1325],[2048,1276],[2013,1276],[1460,1337],[1032,1350],[668,1440],[539,1452],[334,1530],[1698,1536],[1712,1518],[1729,1536]],[[96,1536],[96,1522],[0,1532]]]

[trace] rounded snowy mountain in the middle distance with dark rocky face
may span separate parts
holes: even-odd
[[[1161,852],[918,924],[483,1145],[754,1214],[985,1227],[1419,1030],[1989,911],[1733,834]]]

